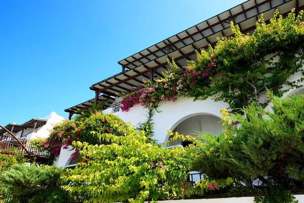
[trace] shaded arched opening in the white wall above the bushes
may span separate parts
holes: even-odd
[[[173,127],[173,132],[178,132],[179,134],[191,135],[197,137],[199,131],[211,132],[213,134],[219,134],[222,130],[222,125],[219,123],[220,118],[215,115],[210,114],[199,114],[199,115],[190,115],[185,119],[178,121]],[[167,140],[169,139],[169,136]],[[169,146],[173,145],[182,145],[183,147],[191,144],[191,142],[184,141],[180,139],[170,142]]]

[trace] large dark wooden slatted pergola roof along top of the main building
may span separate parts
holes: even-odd
[[[249,0],[234,8],[224,11],[208,20],[183,30],[176,35],[133,54],[118,63],[122,71],[114,76],[93,84],[90,89],[95,91],[98,103],[100,95],[115,97],[117,94],[126,93],[141,87],[143,81],[153,81],[162,78],[162,73],[170,70],[166,56],[174,58],[179,71],[187,65],[187,60],[197,60],[196,51],[214,46],[217,38],[230,37],[233,33],[230,23],[240,27],[243,33],[253,33],[255,23],[263,13],[263,18],[268,23],[278,9],[280,15],[287,16],[292,8],[296,14],[304,9],[303,0]],[[84,103],[83,103],[84,104]],[[85,108],[83,105],[80,107]],[[74,106],[72,108],[77,108]],[[66,112],[74,113],[72,108]]]

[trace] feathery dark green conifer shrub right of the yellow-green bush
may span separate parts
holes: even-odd
[[[246,117],[221,110],[225,129],[219,136],[199,133],[206,144],[200,147],[195,170],[252,188],[257,181],[286,190],[303,188],[304,95],[284,99],[268,94],[273,113],[255,103],[242,109]]]

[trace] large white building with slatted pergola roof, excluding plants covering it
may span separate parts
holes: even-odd
[[[170,70],[166,55],[169,59],[174,58],[176,64],[181,67],[187,64],[187,60],[196,60],[196,50],[207,49],[208,44],[215,45],[217,38],[232,36],[230,22],[239,25],[243,33],[253,33],[255,23],[260,14],[263,13],[265,21],[273,17],[275,9],[284,17],[292,8],[296,12],[304,9],[304,0],[249,0],[245,3],[220,13],[208,20],[205,20],[191,28],[179,32],[168,39],[163,40],[149,48],[146,48],[132,56],[129,56],[118,63],[122,71],[110,78],[93,84],[90,89],[95,91],[95,98],[85,101],[82,104],[68,108],[69,118],[77,109],[91,107],[91,102],[108,100],[105,104],[104,113],[112,112],[124,121],[131,121],[137,124],[146,120],[144,116],[147,109],[135,105],[128,112],[119,109],[117,93],[129,92],[134,87],[142,86],[142,81],[160,79],[162,72]],[[183,71],[179,68],[180,71]],[[294,81],[302,75],[294,75],[289,80]],[[301,89],[290,90],[289,93],[301,92]],[[181,134],[193,134],[196,131],[207,131],[217,134],[222,126],[218,122],[221,115],[221,108],[228,108],[229,105],[223,102],[215,102],[211,98],[206,100],[193,101],[194,98],[179,97],[176,102],[162,101],[154,119],[155,137],[159,143],[169,139],[167,130],[178,131]],[[118,104],[118,105],[116,105]],[[186,144],[176,141],[172,145]],[[72,151],[62,150],[58,165],[67,165]]]

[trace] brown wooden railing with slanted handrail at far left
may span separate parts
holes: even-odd
[[[26,150],[34,157],[47,157],[49,152],[43,147],[36,147],[30,141],[25,139],[18,139],[26,148]],[[9,136],[0,136],[0,151],[3,154],[23,153],[27,155],[26,151],[15,138]]]

